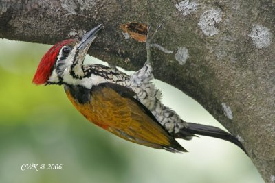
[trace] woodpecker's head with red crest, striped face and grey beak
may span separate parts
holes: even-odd
[[[64,77],[72,77],[72,80],[84,77],[83,61],[102,27],[102,24],[94,27],[81,40],[63,40],[52,46],[41,59],[32,82],[62,84]]]

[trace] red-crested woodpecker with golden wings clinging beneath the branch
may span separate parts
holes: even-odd
[[[161,92],[151,83],[151,47],[158,29],[146,38],[147,60],[139,71],[126,75],[115,66],[83,64],[91,43],[102,29],[100,24],[80,40],[56,43],[41,59],[33,78],[34,84],[63,85],[74,107],[91,123],[121,138],[156,149],[187,152],[175,138],[192,139],[196,135],[212,136],[243,145],[218,127],[187,123],[161,102]]]

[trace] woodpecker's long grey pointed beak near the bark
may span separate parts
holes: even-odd
[[[103,28],[103,25],[100,24],[97,27],[94,27],[94,29],[91,29],[89,32],[87,32],[80,42],[78,43],[76,49],[80,52],[87,53],[89,47],[91,46],[91,43],[95,40],[96,36],[98,35],[98,32]]]

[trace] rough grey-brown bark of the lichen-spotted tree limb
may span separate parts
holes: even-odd
[[[243,142],[265,182],[275,182],[275,1],[0,0],[0,38],[54,44],[103,23],[91,55],[125,69],[146,60],[120,25],[164,29],[154,75],[196,99]],[[188,51],[188,55],[187,55]]]

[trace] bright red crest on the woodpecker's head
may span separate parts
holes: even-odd
[[[60,49],[63,46],[75,41],[75,39],[63,40],[61,42],[56,43],[56,45],[52,46],[49,49],[49,51],[45,53],[43,58],[41,58],[41,61],[39,63],[39,66],[37,67],[32,82],[34,84],[45,84],[47,80],[49,80],[50,75],[52,74],[52,70],[54,69],[54,63],[56,62]]]

